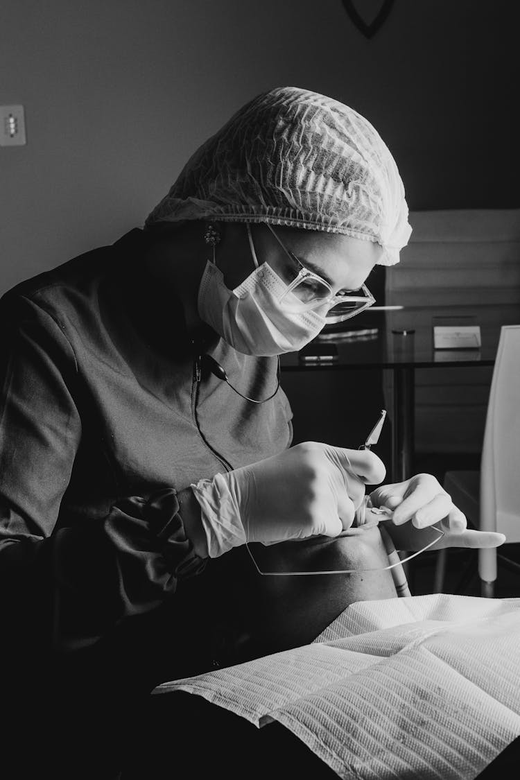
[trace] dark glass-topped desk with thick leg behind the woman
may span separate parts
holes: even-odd
[[[359,314],[344,323],[347,328],[377,328],[377,335],[366,339],[334,339],[338,347],[336,363],[306,364],[298,353],[281,356],[285,371],[345,371],[345,369],[379,368],[392,371],[392,481],[400,482],[412,476],[414,452],[414,388],[418,368],[492,366],[497,352],[501,325],[497,321],[479,321],[482,346],[479,349],[433,349],[433,317],[462,315],[462,310],[444,307],[442,310],[406,307],[405,310]],[[520,321],[520,312],[516,321]],[[504,322],[501,324],[510,324]],[[513,324],[513,321],[511,321]],[[394,333],[396,329],[413,329],[409,335]]]

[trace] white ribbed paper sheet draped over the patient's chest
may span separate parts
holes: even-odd
[[[312,644],[163,683],[281,722],[341,778],[472,780],[520,735],[520,599],[348,607]]]

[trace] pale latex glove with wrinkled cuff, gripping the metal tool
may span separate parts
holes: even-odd
[[[191,488],[201,507],[208,555],[246,541],[274,544],[316,535],[334,537],[352,525],[365,484],[384,479],[370,450],[306,441]]]

